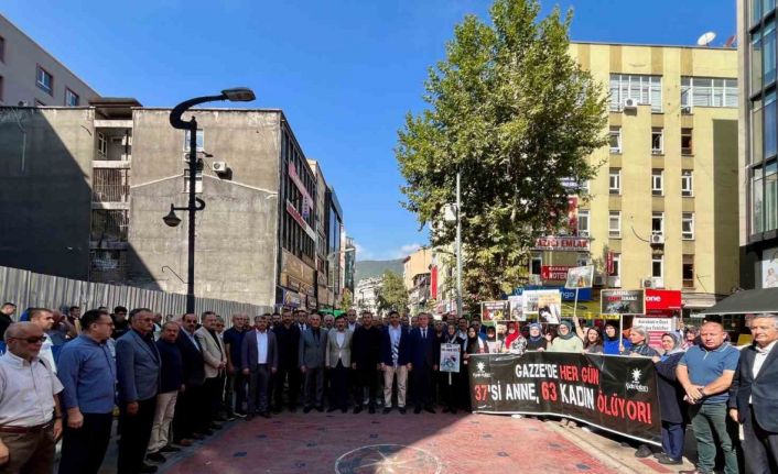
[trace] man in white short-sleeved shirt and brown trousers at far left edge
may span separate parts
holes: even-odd
[[[57,394],[62,384],[37,354],[43,330],[32,322],[9,326],[0,356],[0,472],[46,473],[62,436]]]

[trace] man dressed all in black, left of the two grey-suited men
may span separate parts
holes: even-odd
[[[298,365],[298,349],[300,346],[300,329],[292,320],[292,311],[281,312],[281,323],[273,326],[278,345],[278,371],[273,376],[273,411],[280,412],[283,405],[283,385],[289,384],[289,410],[298,410],[301,374]]]

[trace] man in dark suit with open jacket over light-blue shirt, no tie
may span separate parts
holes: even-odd
[[[257,329],[246,333],[240,350],[244,375],[249,377],[247,421],[253,418],[256,411],[270,418],[268,396],[270,377],[278,370],[278,346],[275,334],[268,330],[269,323],[267,316],[256,317]]]

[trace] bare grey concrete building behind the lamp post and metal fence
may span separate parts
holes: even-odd
[[[317,250],[318,184],[283,112],[195,113],[197,192],[206,202],[197,213],[195,294],[316,309],[318,283],[329,286],[317,275],[316,258],[327,254]],[[171,203],[186,205],[188,176],[185,133],[169,115],[131,99],[0,108],[14,118],[0,123],[9,157],[0,163],[0,264],[185,293],[187,217],[174,229],[161,219]],[[339,211],[326,196],[325,208]]]

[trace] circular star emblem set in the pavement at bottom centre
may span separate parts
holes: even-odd
[[[441,462],[419,448],[372,444],[352,450],[335,461],[336,474],[440,474]]]

